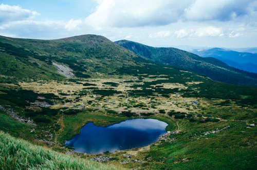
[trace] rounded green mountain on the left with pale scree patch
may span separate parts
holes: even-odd
[[[17,78],[63,79],[72,75],[78,78],[104,77],[114,74],[115,70],[123,66],[138,65],[135,62],[138,56],[134,53],[97,35],[59,40],[1,36],[0,50],[0,72]]]

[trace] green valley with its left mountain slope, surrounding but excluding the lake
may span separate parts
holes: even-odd
[[[156,64],[97,35],[0,42],[0,129],[32,147],[102,162],[103,169],[255,168],[256,87]],[[170,132],[149,146],[100,155],[64,147],[88,122],[136,118],[164,121]]]

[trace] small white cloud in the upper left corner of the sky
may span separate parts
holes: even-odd
[[[19,6],[0,5],[0,23],[28,20],[39,15],[38,12],[23,9]]]

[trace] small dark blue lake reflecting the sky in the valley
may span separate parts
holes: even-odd
[[[107,127],[89,122],[80,134],[65,142],[75,152],[102,154],[106,151],[142,147],[155,142],[166,133],[168,124],[156,119],[130,119]]]

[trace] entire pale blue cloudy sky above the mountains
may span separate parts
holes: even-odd
[[[257,0],[0,0],[0,35],[81,34],[156,47],[256,47]]]

